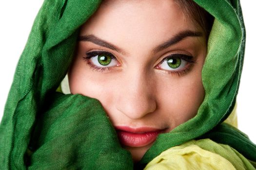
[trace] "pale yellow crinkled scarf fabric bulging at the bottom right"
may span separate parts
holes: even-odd
[[[191,140],[172,147],[147,164],[145,170],[255,170],[242,154],[229,145],[210,139]]]

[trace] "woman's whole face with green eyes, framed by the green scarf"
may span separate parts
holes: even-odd
[[[106,0],[81,27],[72,94],[98,99],[134,161],[204,98],[200,27],[173,0]]]

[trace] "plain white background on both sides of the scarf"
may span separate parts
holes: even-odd
[[[0,119],[20,54],[43,0],[0,1]],[[241,0],[246,51],[237,96],[238,128],[256,143],[256,12],[254,0]]]

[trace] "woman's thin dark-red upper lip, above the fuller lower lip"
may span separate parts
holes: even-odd
[[[163,131],[163,129],[158,129],[154,127],[129,127],[129,126],[115,126],[115,129],[117,131],[125,131],[125,132],[131,132],[131,133],[147,133],[147,132],[158,132],[158,131]]]

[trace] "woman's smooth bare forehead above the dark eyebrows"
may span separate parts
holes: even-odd
[[[96,34],[141,50],[185,30],[200,31],[174,0],[106,0],[81,27],[80,35]]]

